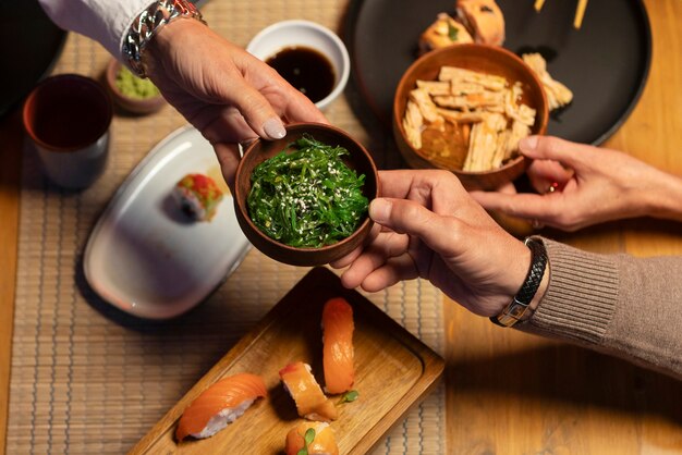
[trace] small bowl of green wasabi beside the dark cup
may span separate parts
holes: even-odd
[[[151,81],[135,76],[115,59],[107,65],[105,78],[113,101],[129,112],[147,114],[166,104],[166,99]]]

